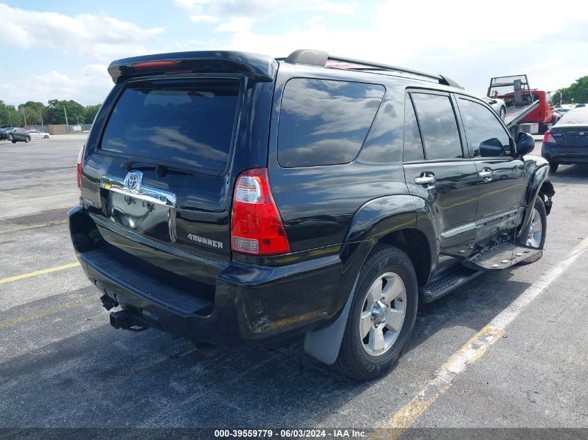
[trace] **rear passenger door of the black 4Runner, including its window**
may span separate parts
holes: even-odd
[[[477,169],[462,145],[454,105],[445,92],[406,96],[404,174],[408,191],[424,199],[436,223],[438,271],[466,259],[476,238]]]

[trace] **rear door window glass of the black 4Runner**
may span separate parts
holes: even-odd
[[[461,158],[461,140],[450,97],[413,93],[427,159]]]

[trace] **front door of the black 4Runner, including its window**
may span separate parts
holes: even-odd
[[[514,140],[490,108],[470,97],[456,101],[478,174],[477,244],[492,247],[513,238],[525,200],[525,164],[511,156]]]

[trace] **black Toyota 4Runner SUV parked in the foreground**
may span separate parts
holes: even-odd
[[[440,75],[322,51],[118,60],[69,213],[113,327],[304,348],[369,379],[419,302],[536,261],[553,186]]]

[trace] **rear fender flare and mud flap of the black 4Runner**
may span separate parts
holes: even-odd
[[[334,364],[339,355],[347,318],[356,291],[360,269],[376,243],[393,231],[418,229],[418,215],[424,203],[412,195],[389,195],[366,202],[353,215],[347,236],[341,247],[340,256],[344,269],[338,291],[345,292],[345,286],[353,283],[342,298],[335,300],[334,310],[340,310],[337,318],[328,326],[308,332],[304,339],[305,352],[323,362]],[[429,234],[424,232],[429,241]],[[333,316],[336,316],[336,312]]]

